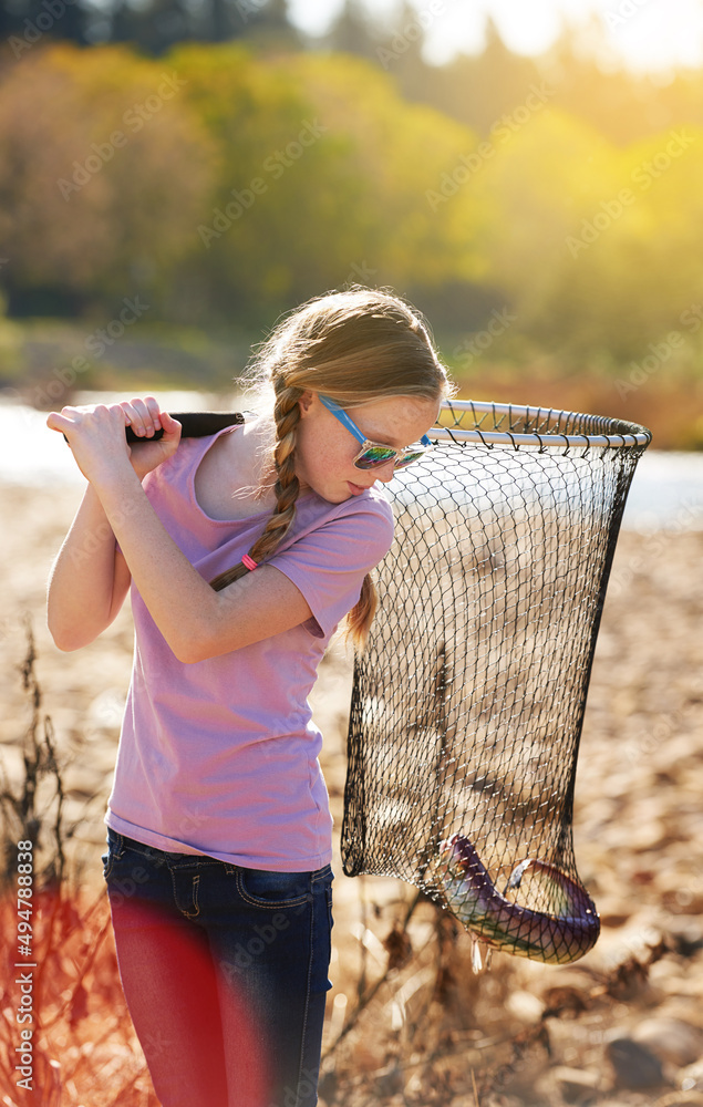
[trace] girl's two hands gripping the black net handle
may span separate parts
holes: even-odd
[[[132,448],[125,438],[127,425],[144,438]],[[120,404],[63,407],[60,414],[49,415],[46,426],[66,436],[81,473],[96,487],[130,463],[142,479],[170,457],[180,441],[180,424],[161,412],[153,396]],[[149,442],[159,428],[163,438]]]

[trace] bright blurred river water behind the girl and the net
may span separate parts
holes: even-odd
[[[112,401],[92,394],[76,402]],[[221,400],[194,392],[159,392],[166,410],[226,410]],[[50,488],[84,484],[62,435],[46,427],[46,414],[11,399],[0,400],[0,480]],[[624,529],[703,530],[703,454],[648,449],[640,459],[622,524]]]

